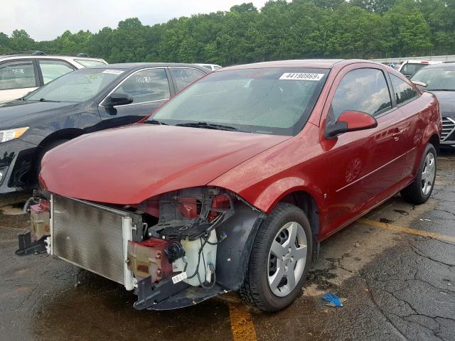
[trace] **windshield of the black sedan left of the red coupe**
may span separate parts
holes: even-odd
[[[80,69],[23,97],[26,101],[85,102],[122,75],[123,70]]]

